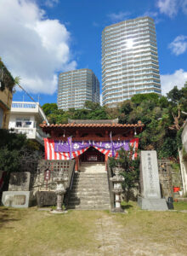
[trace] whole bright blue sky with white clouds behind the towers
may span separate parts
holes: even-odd
[[[59,72],[88,67],[101,86],[102,30],[144,15],[156,21],[166,94],[187,80],[187,0],[0,0],[0,56],[36,101],[56,102]]]

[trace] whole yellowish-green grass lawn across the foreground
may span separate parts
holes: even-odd
[[[37,211],[36,207],[29,209],[14,209],[0,207],[0,254],[1,256],[21,255],[95,255],[99,252],[101,241],[99,236],[100,220],[107,237],[118,238],[127,255],[136,247],[159,245],[160,254],[186,255],[187,245],[187,213],[184,212],[149,212],[139,209],[135,202],[122,203],[127,214],[114,214],[109,211],[69,211],[64,215],[52,215],[46,211]],[[187,209],[186,202],[174,203],[175,209]],[[107,222],[106,222],[107,220]],[[116,232],[112,235],[111,232]],[[109,240],[108,243],[113,242]],[[126,245],[124,246],[124,242]],[[75,252],[82,252],[77,254]],[[88,252],[91,254],[84,254]],[[133,252],[133,251],[132,251]],[[59,254],[65,255],[65,254]],[[148,255],[141,254],[139,255]],[[138,255],[137,254],[137,255]],[[73,255],[73,253],[72,253]],[[97,255],[112,255],[99,253]],[[116,254],[117,255],[117,254]],[[175,254],[173,254],[175,255]]]

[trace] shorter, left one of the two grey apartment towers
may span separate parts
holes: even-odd
[[[58,108],[83,108],[86,101],[99,102],[99,80],[88,68],[59,74]]]

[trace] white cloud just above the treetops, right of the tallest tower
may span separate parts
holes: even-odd
[[[178,69],[172,74],[161,75],[161,94],[165,95],[173,89],[175,85],[178,89],[182,88],[187,81],[187,72],[183,69]]]

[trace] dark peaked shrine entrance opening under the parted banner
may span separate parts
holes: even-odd
[[[105,162],[105,154],[102,154],[94,147],[90,147],[80,155],[79,160],[81,162]]]

